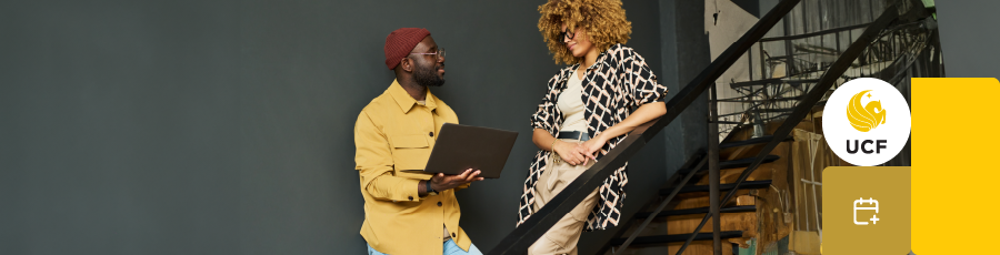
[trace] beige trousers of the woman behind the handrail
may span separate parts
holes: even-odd
[[[563,140],[577,143],[576,140]],[[570,165],[564,161],[558,163],[549,162],[549,166],[538,183],[534,184],[534,210],[538,211],[546,205],[552,197],[566,188],[577,176],[593,165],[593,160],[587,162],[587,165]],[[552,228],[538,238],[531,247],[528,248],[529,255],[548,255],[548,254],[577,254],[577,242],[580,241],[580,234],[583,233],[583,225],[587,223],[587,216],[593,206],[597,205],[598,188],[594,188],[587,198],[583,198],[577,207],[570,213],[562,216]]]

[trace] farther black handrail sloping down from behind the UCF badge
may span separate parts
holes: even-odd
[[[750,166],[743,170],[743,172],[740,174],[740,177],[737,178],[734,183],[737,186],[746,181],[747,177],[750,176],[750,173],[752,173],[753,170],[760,166],[760,164],[763,162],[763,157],[767,156],[768,153],[770,153],[772,150],[774,150],[774,147],[778,146],[779,143],[781,143],[781,140],[788,136],[796,128],[796,125],[798,125],[799,122],[802,121],[810,111],[812,111],[812,105],[816,105],[816,103],[818,103],[823,98],[827,91],[829,91],[830,88],[832,88],[837,82],[837,79],[840,78],[840,74],[842,74],[851,67],[851,63],[861,55],[861,53],[864,51],[864,48],[871,44],[872,40],[878,37],[879,32],[893,22],[898,21],[898,18],[901,14],[900,11],[907,11],[906,14],[908,16],[917,16],[913,13],[914,9],[908,8],[910,7],[910,4],[912,3],[908,4],[907,0],[902,0],[886,9],[886,11],[883,11],[882,14],[879,16],[879,18],[874,22],[872,22],[863,33],[861,33],[858,40],[856,40],[853,43],[851,43],[850,47],[848,47],[843,54],[841,54],[841,57],[837,59],[836,62],[833,62],[830,69],[828,69],[823,73],[823,75],[820,78],[820,81],[809,92],[809,94],[807,94],[806,98],[799,102],[799,106],[797,106],[796,110],[791,114],[789,114],[784,123],[782,123],[781,126],[779,126],[778,130],[774,131],[774,139],[768,142],[768,144],[760,150],[757,157],[754,157],[753,163],[751,163]],[[738,190],[732,190],[727,193],[721,203],[724,204],[729,202],[729,200],[731,200],[736,195],[737,191]],[[678,255],[683,254],[684,249],[688,247],[688,245],[691,244],[692,241],[694,241],[697,234],[701,232],[701,228],[704,227],[704,224],[708,223],[708,220],[711,216],[711,214],[706,214],[704,217],[702,217],[701,223],[698,224],[698,227],[696,227],[693,231],[694,234],[691,234],[691,236],[689,236],[684,242],[683,246],[681,246],[677,252]]]

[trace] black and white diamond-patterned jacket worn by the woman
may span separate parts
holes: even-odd
[[[556,100],[567,86],[567,80],[580,64],[559,70],[559,74],[549,80],[549,90],[542,102],[538,104],[538,111],[531,115],[531,126],[542,129],[556,136],[562,125],[563,115],[556,106]],[[600,134],[608,128],[618,124],[629,116],[636,108],[651,102],[663,101],[667,86],[657,82],[657,75],[652,73],[646,60],[636,53],[632,48],[621,43],[611,45],[601,53],[597,62],[587,69],[583,79],[583,119],[587,121],[588,133],[592,136]],[[616,145],[624,140],[626,135],[613,137],[601,147],[598,154],[600,160]],[[550,152],[539,151],[524,180],[518,212],[518,225],[524,223],[534,213],[534,185],[538,177],[546,171]],[[604,180],[599,194],[601,196],[597,206],[587,217],[586,231],[606,230],[617,226],[621,216],[624,187],[629,178],[627,175],[628,163],[614,171]],[[609,226],[610,224],[610,226]]]

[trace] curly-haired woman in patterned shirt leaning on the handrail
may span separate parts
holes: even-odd
[[[531,164],[519,221],[540,210],[593,162],[642,123],[667,112],[667,88],[646,61],[623,45],[631,33],[619,0],[549,0],[538,28],[557,63],[571,64],[548,83],[531,116]],[[628,165],[628,164],[626,164]],[[618,225],[628,183],[622,166],[529,248],[529,254],[576,254],[582,231]]]

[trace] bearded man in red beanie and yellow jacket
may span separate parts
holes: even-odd
[[[369,254],[481,255],[458,225],[454,198],[456,191],[482,180],[479,171],[420,171],[441,125],[458,123],[454,111],[428,89],[444,84],[444,50],[426,29],[398,29],[386,38],[386,65],[396,81],[354,124],[354,163],[364,196],[361,236]]]

